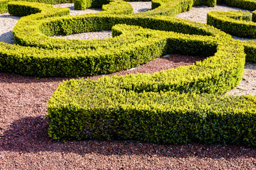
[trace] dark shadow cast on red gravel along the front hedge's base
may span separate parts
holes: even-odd
[[[73,152],[103,155],[146,155],[149,157],[210,157],[231,159],[256,157],[256,149],[234,145],[156,145],[142,141],[68,141],[60,142],[48,137],[48,120],[44,116],[21,118],[11,124],[0,138],[0,150],[11,152]]]

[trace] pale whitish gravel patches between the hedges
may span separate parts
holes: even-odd
[[[129,2],[134,8],[134,13],[144,12],[151,9],[151,2]],[[74,9],[73,4],[58,4],[55,7],[66,7],[70,8],[71,15],[81,15],[84,13],[97,13],[102,11],[101,9],[90,8],[85,11],[78,11]],[[240,10],[239,8],[232,8],[228,6],[197,6],[193,7],[191,11],[184,13],[178,13],[177,18],[185,18],[190,21],[196,21],[201,23],[206,23],[206,16],[208,11],[230,11],[230,10]],[[16,25],[19,17],[10,16],[9,13],[0,14],[0,41],[14,44],[14,36],[11,33],[14,26]],[[111,31],[100,31],[100,32],[91,32],[91,33],[80,33],[74,35],[66,36],[54,36],[54,38],[66,38],[66,39],[103,39],[112,37]],[[252,40],[248,38],[236,38],[236,40]],[[245,64],[245,72],[240,82],[240,86],[237,86],[235,89],[231,90],[227,94],[231,95],[247,95],[247,94],[256,94],[256,64]]]

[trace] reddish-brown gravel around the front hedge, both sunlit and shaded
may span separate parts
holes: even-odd
[[[171,55],[117,74],[152,73],[198,60]],[[0,73],[0,169],[256,169],[256,149],[244,146],[51,140],[46,102],[63,80]]]

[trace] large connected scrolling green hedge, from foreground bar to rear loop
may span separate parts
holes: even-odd
[[[24,17],[14,28],[16,45],[0,43],[0,71],[78,77],[129,69],[174,52],[208,58],[155,74],[64,82],[48,102],[50,137],[255,146],[255,96],[220,96],[239,84],[245,57],[253,59],[255,48],[247,51],[212,26],[173,17],[216,1],[157,0],[153,10],[139,14],[129,14],[124,1],[108,3],[101,13],[68,16],[67,8],[9,2],[9,13]],[[107,40],[49,37],[110,29],[113,38]]]

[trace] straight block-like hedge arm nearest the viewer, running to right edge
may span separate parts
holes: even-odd
[[[48,103],[50,137],[256,145],[255,96],[137,94],[109,83],[117,78],[60,84]]]

